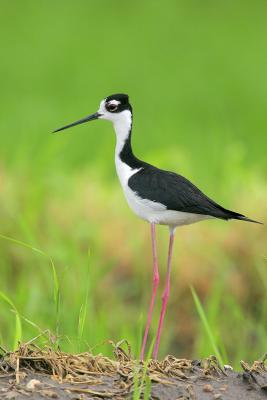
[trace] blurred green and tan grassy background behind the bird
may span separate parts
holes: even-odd
[[[66,349],[127,338],[137,351],[150,239],[115,180],[112,127],[50,132],[126,92],[141,158],[266,220],[265,16],[263,0],[1,1],[0,233],[53,259],[60,305],[49,259],[5,240],[0,290],[40,329],[55,331],[59,318]],[[161,228],[162,277],[166,241]],[[178,230],[162,355],[212,352],[189,285],[230,362],[266,351],[265,243],[264,227],[237,222]],[[14,318],[1,302],[0,340],[9,347]],[[156,322],[157,314],[152,331]],[[22,333],[37,334],[25,321]]]

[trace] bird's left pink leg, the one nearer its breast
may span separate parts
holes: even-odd
[[[157,258],[157,248],[156,248],[155,224],[151,224],[151,237],[152,237],[152,252],[153,252],[153,291],[152,291],[152,296],[151,296],[151,300],[150,300],[150,306],[149,306],[147,322],[146,322],[146,329],[145,329],[145,334],[144,334],[142,348],[141,348],[141,354],[140,354],[141,360],[144,359],[148,331],[149,331],[149,327],[151,324],[151,317],[152,317],[152,312],[153,312],[153,308],[154,308],[154,302],[155,302],[155,298],[156,298],[157,288],[159,285],[159,270],[158,270],[158,258]]]

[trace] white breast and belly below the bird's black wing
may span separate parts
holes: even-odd
[[[207,215],[192,214],[182,211],[167,210],[166,206],[151,200],[142,199],[128,186],[129,178],[139,169],[131,169],[119,158],[115,159],[117,174],[126,197],[126,200],[138,217],[160,225],[169,225],[172,227],[188,225],[194,222],[211,218]]]

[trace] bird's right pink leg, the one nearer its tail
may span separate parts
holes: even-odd
[[[174,232],[170,232],[170,242],[169,242],[169,252],[168,252],[168,265],[167,265],[167,275],[166,275],[166,285],[162,296],[162,307],[160,312],[160,319],[156,337],[156,343],[153,351],[153,358],[157,358],[158,349],[159,349],[159,342],[160,342],[160,335],[163,326],[163,321],[166,313],[167,302],[170,294],[170,275],[171,275],[171,259],[172,259],[172,248],[173,248],[173,239],[174,239]]]

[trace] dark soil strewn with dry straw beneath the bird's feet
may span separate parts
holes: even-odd
[[[186,360],[167,356],[147,365],[133,360],[130,349],[114,346],[115,359],[90,353],[72,355],[34,344],[0,356],[0,399],[149,399],[259,400],[267,398],[265,359],[243,372],[221,368],[211,356]],[[148,389],[146,386],[150,386]]]

